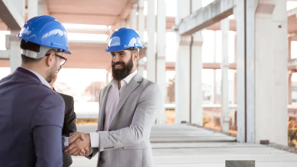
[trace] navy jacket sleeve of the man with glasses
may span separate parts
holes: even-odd
[[[63,141],[61,138],[65,103],[59,94],[45,97],[32,119],[36,167],[61,167]]]

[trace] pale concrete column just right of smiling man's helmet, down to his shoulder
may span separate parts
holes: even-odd
[[[147,79],[156,82],[156,55],[155,55],[155,1],[148,0],[148,13],[146,15],[146,31],[148,34],[147,50],[146,50],[146,72]]]

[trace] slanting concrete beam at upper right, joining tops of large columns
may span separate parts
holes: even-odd
[[[180,35],[191,35],[233,14],[234,0],[215,0],[173,26]]]

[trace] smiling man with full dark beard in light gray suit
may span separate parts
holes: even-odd
[[[105,51],[111,55],[113,80],[99,93],[97,131],[84,133],[88,140],[73,142],[65,152],[80,150],[89,159],[98,153],[97,167],[154,166],[149,138],[162,96],[157,84],[136,70],[140,48],[133,29],[121,28],[111,35]]]

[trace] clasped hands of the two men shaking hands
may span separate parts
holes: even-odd
[[[91,154],[91,141],[89,133],[75,132],[68,138],[69,145],[64,152],[73,156],[88,156]]]

